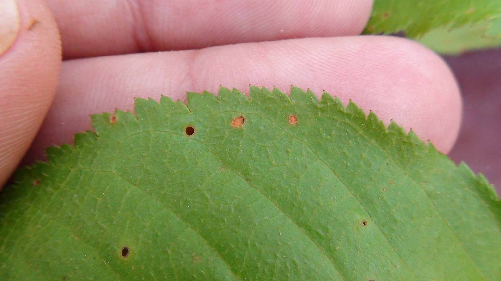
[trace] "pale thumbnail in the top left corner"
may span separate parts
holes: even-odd
[[[0,54],[8,50],[16,41],[19,25],[17,0],[0,0]]]

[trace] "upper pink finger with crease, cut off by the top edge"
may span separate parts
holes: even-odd
[[[372,0],[47,0],[63,57],[356,35]]]

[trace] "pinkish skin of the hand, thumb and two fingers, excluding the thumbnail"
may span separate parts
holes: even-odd
[[[0,49],[0,186],[91,129],[89,114],[219,85],[326,90],[447,153],[461,96],[444,61],[411,40],[359,36],[371,0],[310,2],[19,0],[20,31]]]

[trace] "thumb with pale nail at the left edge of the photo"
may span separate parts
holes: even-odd
[[[56,91],[61,40],[41,0],[0,0],[0,189],[29,148]]]

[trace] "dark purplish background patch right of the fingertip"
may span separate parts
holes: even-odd
[[[444,56],[463,94],[459,137],[449,156],[481,172],[501,194],[501,48]]]

